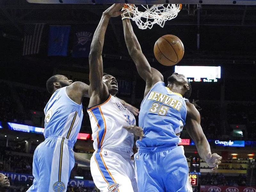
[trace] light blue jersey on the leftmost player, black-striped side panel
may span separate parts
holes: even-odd
[[[45,139],[56,135],[75,144],[83,120],[83,106],[68,97],[66,87],[52,94],[44,108],[44,114]]]

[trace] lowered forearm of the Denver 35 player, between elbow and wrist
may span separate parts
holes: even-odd
[[[202,135],[199,139],[194,140],[194,141],[195,141],[199,156],[205,160],[208,153],[209,152],[211,153],[211,148],[210,148],[209,142],[207,141],[205,135]]]

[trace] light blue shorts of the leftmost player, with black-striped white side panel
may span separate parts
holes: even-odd
[[[35,150],[35,179],[27,192],[65,192],[74,165],[72,142],[60,136],[48,137]]]

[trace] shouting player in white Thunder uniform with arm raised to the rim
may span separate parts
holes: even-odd
[[[103,74],[102,47],[110,17],[121,14],[123,4],[114,4],[103,12],[94,33],[89,55],[90,102],[88,113],[92,126],[93,147],[91,173],[101,192],[137,192],[132,146],[134,136],[123,128],[136,124],[135,118],[116,99],[115,77]],[[135,128],[143,136],[141,128]]]

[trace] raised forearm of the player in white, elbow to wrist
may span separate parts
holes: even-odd
[[[91,51],[90,51],[91,57],[92,56],[99,57],[102,54],[104,37],[105,37],[106,29],[108,27],[109,19],[110,19],[110,16],[103,12],[102,17],[100,19],[100,23],[96,28],[92,38]]]

